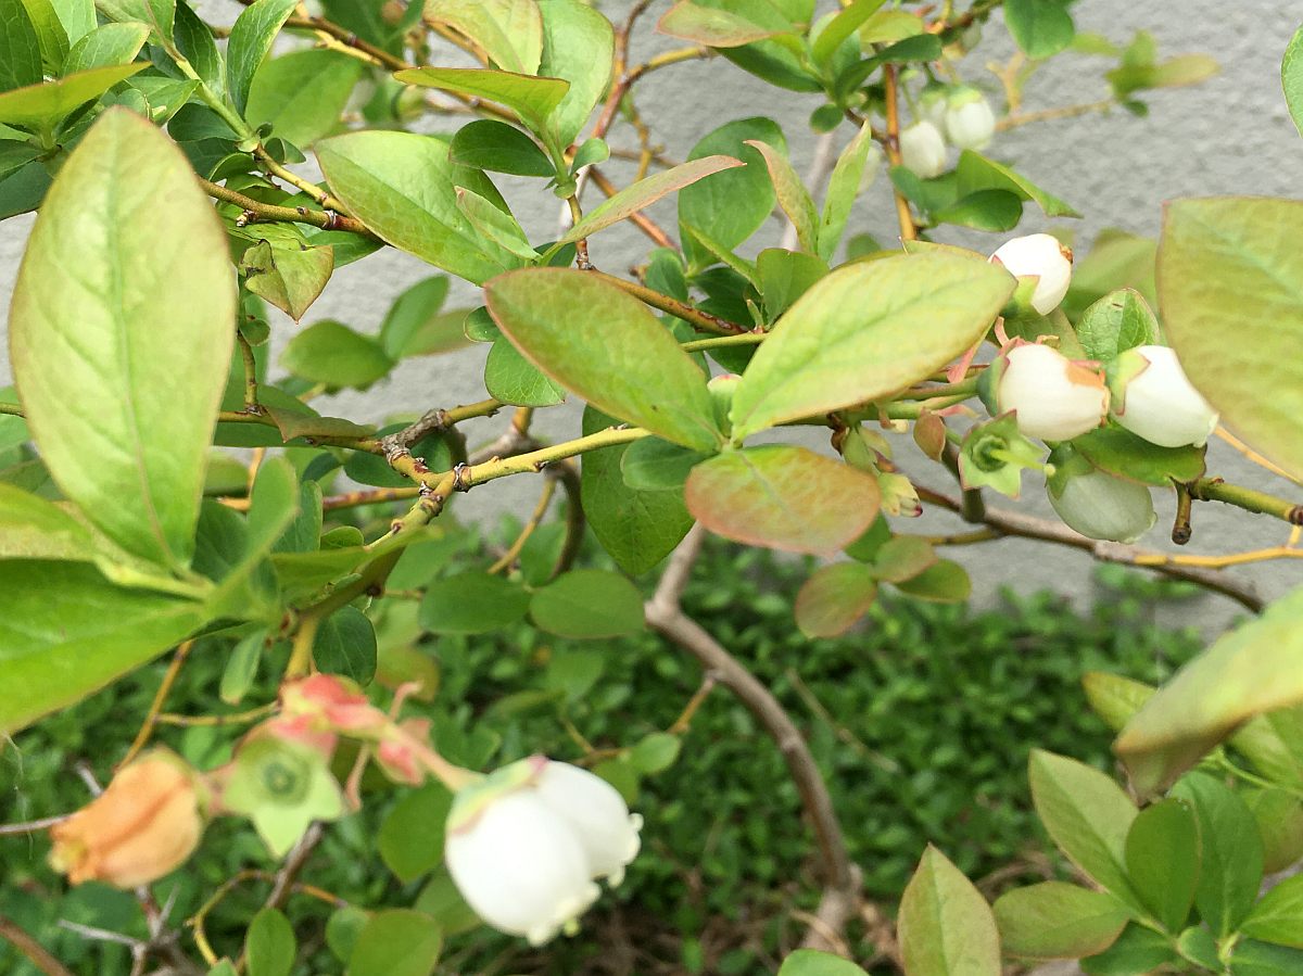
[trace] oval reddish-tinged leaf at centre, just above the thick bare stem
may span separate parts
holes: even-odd
[[[702,525],[724,538],[833,554],[877,516],[878,483],[804,447],[771,444],[698,464],[684,499]]]

